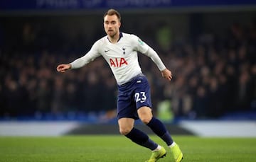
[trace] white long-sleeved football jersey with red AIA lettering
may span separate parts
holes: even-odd
[[[120,39],[115,44],[108,40],[107,35],[102,37],[92,45],[91,50],[87,54],[70,64],[72,69],[80,68],[102,55],[110,65],[117,83],[122,85],[130,81],[134,76],[142,74],[137,52],[151,57],[160,71],[166,68],[158,54],[149,45],[142,42],[136,35],[127,33],[120,33]]]

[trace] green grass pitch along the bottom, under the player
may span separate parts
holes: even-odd
[[[159,137],[154,141],[165,146]],[[256,138],[203,138],[174,136],[184,158],[182,162],[255,162]],[[137,162],[151,151],[121,135],[64,137],[0,137],[2,162]],[[171,154],[159,162],[170,162]]]

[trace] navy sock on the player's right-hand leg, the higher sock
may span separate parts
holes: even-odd
[[[174,142],[166,127],[164,127],[164,124],[155,117],[152,117],[147,126],[149,126],[156,135],[163,139],[168,146]]]

